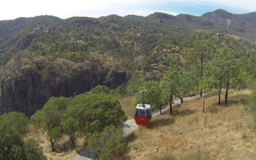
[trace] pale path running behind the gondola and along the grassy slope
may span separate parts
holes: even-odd
[[[200,98],[200,95],[184,98],[183,102],[194,100],[196,98]],[[180,104],[180,100],[175,100],[174,103],[172,104],[172,106],[176,106],[178,104]],[[168,106],[169,106],[169,104],[162,106],[162,113],[168,111]],[[160,110],[158,110],[156,113],[153,114],[153,116],[157,116],[157,115],[160,115]],[[133,130],[138,128],[138,125],[135,123],[134,119],[130,119],[130,120],[127,120],[126,122],[124,122],[122,128],[124,130],[125,136],[128,136],[129,134],[132,133]],[[86,157],[83,157],[83,156],[80,156],[79,154],[77,154],[76,156],[74,156],[72,158],[72,160],[92,160],[92,159],[86,158]]]

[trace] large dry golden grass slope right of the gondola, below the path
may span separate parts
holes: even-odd
[[[230,92],[226,106],[218,105],[218,96],[209,96],[206,113],[202,113],[202,99],[197,99],[175,106],[173,116],[166,112],[153,117],[149,127],[140,127],[128,137],[126,153],[120,159],[256,159],[255,124],[244,112],[249,93]],[[132,150],[133,144],[138,150]]]

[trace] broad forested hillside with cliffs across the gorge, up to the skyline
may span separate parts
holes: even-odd
[[[234,32],[216,24],[222,22],[216,16],[225,17],[222,10],[214,13],[0,21],[0,113],[41,105],[51,96],[84,93],[98,84],[127,82],[135,70],[142,75],[162,73],[173,57],[185,60],[184,48],[196,40],[213,39],[217,48],[229,46],[238,55],[254,48],[246,40],[254,40],[248,37],[254,28]],[[249,25],[255,20],[250,15],[238,17],[248,17],[243,20]]]

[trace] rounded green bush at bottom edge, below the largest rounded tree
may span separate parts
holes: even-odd
[[[113,125],[106,126],[102,132],[95,132],[90,136],[87,147],[89,150],[98,152],[100,159],[112,160],[126,147],[124,131]]]

